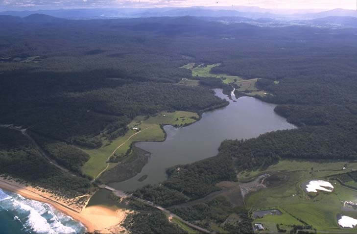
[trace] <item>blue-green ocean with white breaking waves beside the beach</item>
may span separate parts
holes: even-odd
[[[84,234],[70,216],[42,203],[0,189],[0,234]]]

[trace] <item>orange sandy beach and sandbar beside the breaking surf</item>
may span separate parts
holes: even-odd
[[[13,180],[3,178],[0,178],[0,188],[15,192],[31,200],[48,203],[57,210],[81,222],[90,233],[111,233],[113,231],[123,231],[127,233],[127,231],[120,226],[121,222],[125,220],[125,217],[129,213],[127,210],[112,210],[105,206],[91,206],[78,211],[62,201],[53,199],[53,194],[41,192],[40,189],[26,187]]]

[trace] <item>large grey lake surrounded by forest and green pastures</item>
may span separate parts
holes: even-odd
[[[217,96],[228,100],[222,90],[214,90]],[[253,97],[229,100],[228,106],[204,113],[202,118],[183,128],[165,126],[164,142],[138,142],[136,146],[151,152],[149,162],[133,178],[109,184],[111,187],[133,191],[147,184],[166,180],[166,169],[177,164],[189,164],[215,156],[225,139],[249,139],[283,129],[295,128],[284,117],[274,112],[276,105]],[[143,175],[148,177],[139,182]]]

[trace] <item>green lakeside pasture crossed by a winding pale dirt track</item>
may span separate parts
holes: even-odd
[[[124,155],[133,141],[162,141],[165,140],[165,133],[161,129],[161,124],[169,124],[176,127],[185,126],[197,121],[199,116],[196,113],[175,111],[162,112],[152,117],[136,117],[128,124],[129,131],[123,136],[111,142],[106,141],[104,145],[98,149],[83,149],[91,158],[83,165],[82,171],[86,175],[95,178],[105,167],[109,155],[117,149],[119,145],[124,143],[137,131],[133,127],[138,127],[142,131],[123,144],[117,151],[117,155]],[[116,163],[109,164],[109,169],[113,168]]]

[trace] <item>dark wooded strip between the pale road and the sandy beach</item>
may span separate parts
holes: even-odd
[[[0,174],[73,198],[89,192],[86,178],[63,173],[44,158],[19,131],[0,127]]]

